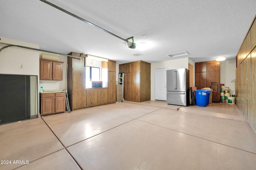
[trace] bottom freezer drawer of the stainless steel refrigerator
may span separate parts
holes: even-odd
[[[167,104],[174,104],[179,106],[187,106],[187,92],[170,92],[167,91]]]

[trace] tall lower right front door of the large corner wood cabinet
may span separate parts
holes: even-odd
[[[140,102],[140,72],[132,72],[132,101]]]

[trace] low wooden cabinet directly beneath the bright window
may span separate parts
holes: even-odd
[[[87,106],[96,106],[108,103],[108,88],[88,88]]]

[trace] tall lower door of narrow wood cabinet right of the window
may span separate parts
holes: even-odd
[[[108,72],[108,102],[116,102],[116,72]]]

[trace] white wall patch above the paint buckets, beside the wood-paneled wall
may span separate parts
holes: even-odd
[[[235,94],[236,60],[220,62],[220,84],[230,88],[230,94]]]

